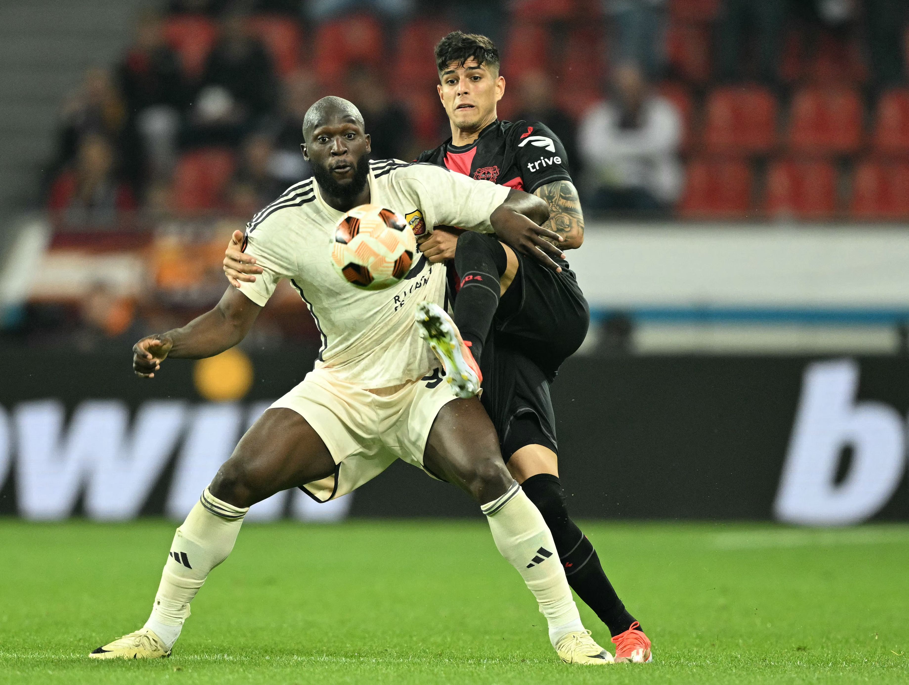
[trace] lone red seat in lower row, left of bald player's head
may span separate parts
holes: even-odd
[[[174,204],[178,211],[199,213],[218,209],[234,174],[234,154],[219,147],[184,154],[174,173]]]

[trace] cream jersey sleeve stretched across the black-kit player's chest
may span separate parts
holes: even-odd
[[[426,226],[457,226],[467,231],[493,233],[489,216],[511,192],[504,185],[474,181],[435,164],[413,164],[401,171],[414,200],[422,208]]]

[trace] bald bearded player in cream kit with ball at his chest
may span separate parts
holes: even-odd
[[[415,318],[421,308],[444,302],[444,266],[419,260],[423,266],[415,265],[409,280],[365,291],[337,276],[328,249],[345,212],[376,204],[419,212],[429,226],[495,232],[527,253],[540,245],[556,256],[561,251],[540,237],[558,239],[538,225],[546,219],[545,204],[430,164],[370,164],[363,117],[341,98],[315,103],[303,135],[315,178],[292,186],[247,227],[246,250],[263,267],[260,278],[239,290],[228,287],[215,309],[185,327],[137,342],[133,365],[138,375],[154,378],[168,356],[200,359],[233,347],[287,279],[323,336],[315,369],[245,433],[177,529],[145,626],[91,656],[168,656],[191,601],[230,554],[255,502],[294,487],[327,501],[403,459],[480,504],[496,547],[533,591],[562,660],[611,663],[612,655],[584,630],[552,535],[504,467],[482,405],[434,378],[437,363]]]

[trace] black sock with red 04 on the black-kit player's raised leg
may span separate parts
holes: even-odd
[[[454,269],[461,289],[454,298],[454,324],[470,342],[477,363],[499,306],[499,278],[506,265],[504,248],[494,236],[468,231],[458,238]]]

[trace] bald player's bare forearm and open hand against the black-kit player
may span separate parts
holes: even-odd
[[[553,271],[561,272],[562,267],[552,257],[564,259],[561,246],[557,246],[564,238],[541,225],[548,218],[549,207],[541,198],[513,189],[490,215],[489,223],[503,243]]]

